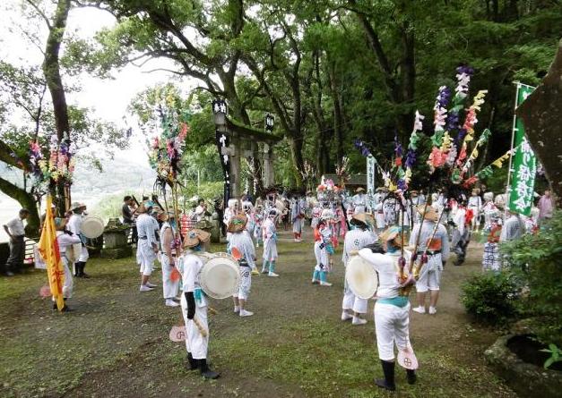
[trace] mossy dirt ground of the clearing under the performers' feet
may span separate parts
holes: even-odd
[[[254,317],[235,316],[230,300],[212,301],[219,311],[210,325],[209,359],[221,372],[215,381],[184,368],[185,345],[168,337],[180,311],[164,306],[161,288],[138,292],[134,258],[91,259],[91,279],[75,280],[73,311],[66,314],[39,297],[43,271],[0,279],[0,396],[516,396],[483,360],[497,334],[472,325],[459,300],[460,284],[480,271],[480,245],[471,246],[463,267],[445,268],[437,315],[411,313],[419,381],[407,385],[397,368],[398,393],[387,394],[373,385],[382,376],[374,302],[366,326],[342,322],[341,247],[329,275],[333,286],[312,285],[309,231],[305,238],[296,243],[281,233],[281,276],[254,276],[248,305]],[[153,279],[161,285],[160,270]]]

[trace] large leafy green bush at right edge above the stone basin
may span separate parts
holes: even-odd
[[[537,234],[500,246],[505,266],[518,273],[529,293],[521,305],[535,319],[533,328],[543,343],[562,346],[562,211],[555,212]]]

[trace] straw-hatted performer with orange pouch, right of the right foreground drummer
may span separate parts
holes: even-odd
[[[411,247],[415,247],[419,242],[416,253],[420,267],[416,283],[418,307],[413,310],[419,314],[426,313],[426,295],[429,291],[428,312],[433,315],[437,313],[441,273],[449,258],[449,236],[444,224],[439,223],[436,226],[439,216],[434,207],[422,205],[418,207],[418,211],[421,215],[425,211],[425,216],[421,224],[414,226],[410,236]]]

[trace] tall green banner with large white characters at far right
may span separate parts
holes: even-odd
[[[515,109],[523,104],[534,87],[517,85]],[[532,197],[534,193],[537,159],[525,137],[523,120],[515,117],[514,123],[514,160],[511,186],[509,189],[509,210],[524,216],[531,216]],[[510,170],[510,173],[512,171]]]

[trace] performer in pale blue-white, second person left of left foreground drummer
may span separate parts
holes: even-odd
[[[156,285],[149,282],[154,269],[156,253],[158,253],[158,241],[154,229],[154,220],[148,215],[151,207],[146,208],[144,204],[137,209],[138,218],[136,219],[136,230],[139,234],[139,244],[137,247],[138,260],[141,263],[141,287],[140,292],[151,292]]]

